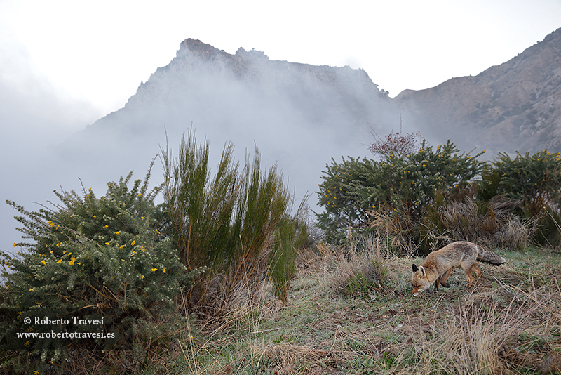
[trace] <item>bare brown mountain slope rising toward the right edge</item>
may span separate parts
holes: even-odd
[[[561,29],[475,77],[394,98],[426,129],[471,149],[561,152]]]

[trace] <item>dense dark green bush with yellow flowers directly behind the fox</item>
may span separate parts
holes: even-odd
[[[381,161],[333,160],[322,176],[319,203],[325,213],[318,215],[318,225],[328,241],[337,242],[346,231],[371,228],[373,215],[384,216],[396,231],[414,236],[436,192],[450,192],[480,173],[480,154],[460,153],[450,141],[435,149],[423,141],[417,152],[388,154]]]

